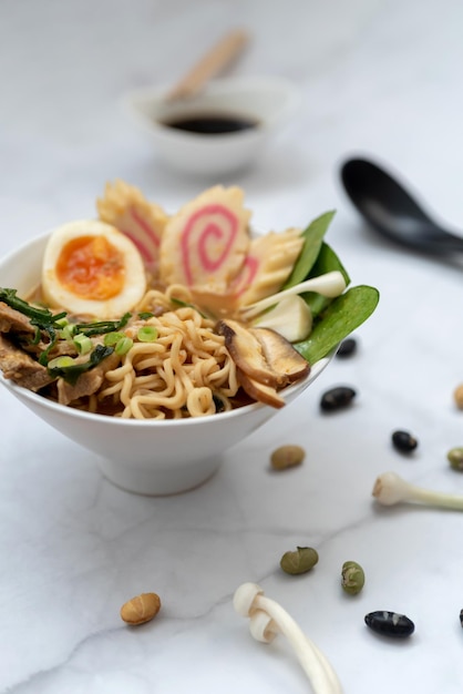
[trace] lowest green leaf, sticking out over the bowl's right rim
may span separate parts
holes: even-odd
[[[296,343],[295,348],[309,364],[322,359],[371,316],[378,300],[379,292],[374,287],[360,285],[348,289],[331,302],[310,336]]]

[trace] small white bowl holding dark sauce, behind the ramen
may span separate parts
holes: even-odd
[[[142,89],[124,98],[135,121],[150,135],[155,152],[169,166],[188,174],[220,175],[255,162],[276,129],[295,113],[298,88],[282,79],[243,78],[210,82],[194,99],[168,103],[168,88]],[[164,123],[184,115],[235,114],[256,127],[204,135],[174,130]]]

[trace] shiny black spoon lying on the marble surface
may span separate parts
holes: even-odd
[[[463,237],[442,228],[411,195],[378,164],[351,159],[341,180],[358,212],[383,236],[426,253],[463,252]]]

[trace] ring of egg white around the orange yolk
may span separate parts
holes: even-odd
[[[104,236],[121,253],[125,279],[121,292],[107,300],[80,297],[66,289],[56,274],[56,265],[63,247],[80,236]],[[146,292],[146,273],[142,256],[134,243],[119,229],[96,220],[80,220],[55,228],[48,241],[42,263],[42,293],[45,303],[73,314],[89,314],[107,320],[120,318],[130,312]]]

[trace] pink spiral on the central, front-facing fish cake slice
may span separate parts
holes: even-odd
[[[237,233],[238,218],[224,205],[205,205],[189,217],[181,241],[182,264],[188,286],[195,284],[193,257],[197,258],[199,269],[206,274],[217,272],[227,261]],[[213,256],[213,245],[217,248],[214,242],[219,242],[220,249]]]

